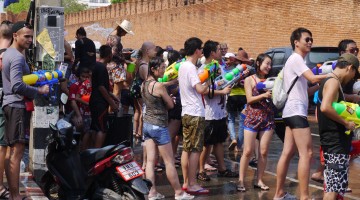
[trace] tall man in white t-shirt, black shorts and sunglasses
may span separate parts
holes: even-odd
[[[310,162],[312,157],[312,138],[307,120],[308,95],[312,95],[319,86],[308,88],[308,81],[318,83],[327,75],[314,75],[305,64],[305,57],[313,44],[312,33],[306,28],[295,29],[290,37],[293,54],[283,68],[284,89],[288,94],[282,118],[286,125],[284,148],[276,170],[276,191],[274,199],[294,199],[285,192],[284,184],[291,158],[296,150],[299,152],[298,177],[300,199],[309,199]],[[309,94],[308,94],[309,93]]]

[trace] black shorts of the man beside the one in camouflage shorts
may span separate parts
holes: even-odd
[[[225,142],[227,138],[226,118],[206,120],[204,130],[204,145],[214,145]]]

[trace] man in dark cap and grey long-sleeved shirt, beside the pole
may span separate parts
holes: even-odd
[[[34,31],[25,21],[12,26],[13,43],[4,53],[2,64],[3,105],[5,115],[5,141],[10,147],[9,161],[5,163],[10,198],[19,200],[20,161],[25,150],[25,135],[30,131],[33,107],[27,107],[37,95],[49,93],[49,86],[33,87],[23,82],[30,73],[24,51],[33,42]],[[29,100],[27,100],[29,99]],[[27,103],[28,102],[28,103]]]

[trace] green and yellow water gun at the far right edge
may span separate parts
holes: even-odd
[[[356,124],[356,127],[360,127],[360,106],[358,104],[340,101],[333,102],[332,107],[340,117],[346,121],[352,121]],[[350,135],[350,131],[345,133]]]

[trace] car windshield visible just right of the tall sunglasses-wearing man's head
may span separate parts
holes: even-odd
[[[311,49],[309,53],[309,61],[311,63],[323,63],[328,60],[336,60],[339,57],[337,48],[319,48]]]

